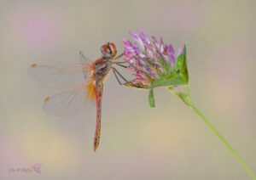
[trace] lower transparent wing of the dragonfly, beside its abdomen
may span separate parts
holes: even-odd
[[[75,115],[91,104],[87,98],[86,83],[71,90],[44,99],[44,110],[51,115]]]

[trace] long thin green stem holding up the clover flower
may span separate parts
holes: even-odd
[[[172,92],[175,96],[177,96],[177,98],[182,99],[183,102],[184,102],[184,99],[181,98],[181,96],[179,96],[178,93],[176,93],[173,89],[170,89],[170,90],[171,90],[171,92]],[[212,132],[214,132],[214,133],[218,136],[218,138],[220,139],[220,141],[221,141],[222,143],[224,143],[225,147],[230,150],[230,152],[231,152],[232,155],[235,156],[236,160],[237,160],[237,161],[239,162],[239,164],[244,168],[244,170],[247,172],[247,174],[248,174],[250,177],[252,177],[254,180],[256,180],[256,175],[254,174],[254,172],[252,171],[252,169],[247,165],[247,163],[241,158],[241,155],[239,155],[239,154],[236,152],[236,150],[235,150],[235,149],[231,146],[231,144],[224,138],[224,136],[217,130],[217,128],[213,126],[212,122],[209,121],[209,120],[207,119],[207,117],[206,117],[205,115],[203,115],[203,114],[201,113],[201,111],[198,110],[198,109],[195,107],[195,105],[192,103],[191,98],[190,98],[190,96],[189,96],[189,91],[188,91],[187,95],[188,95],[188,97],[189,97],[189,104],[186,103],[186,102],[184,102],[184,103],[187,104],[192,110],[194,110],[195,114],[198,115],[198,116],[201,118],[201,120],[204,121],[204,122],[207,124],[207,127],[209,127],[209,128],[212,130]]]

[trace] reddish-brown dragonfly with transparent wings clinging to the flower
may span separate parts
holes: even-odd
[[[101,53],[100,58],[91,61],[84,56],[84,53],[79,52],[80,62],[78,65],[32,64],[28,69],[28,75],[32,79],[43,83],[47,87],[55,87],[60,91],[60,93],[44,99],[43,109],[49,114],[74,115],[84,110],[84,107],[90,102],[96,102],[94,151],[100,143],[103,82],[112,70],[120,85],[128,83],[125,77],[113,67],[113,65],[128,67],[122,65],[125,62],[115,61],[121,58],[123,53],[117,56],[117,48],[113,42],[103,44]],[[65,87],[69,88],[64,90]]]

